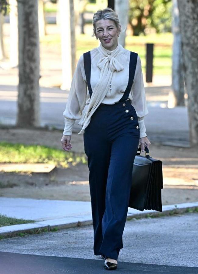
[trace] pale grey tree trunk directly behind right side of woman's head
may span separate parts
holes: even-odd
[[[122,31],[119,35],[119,44],[125,47],[125,37],[126,28],[128,24],[128,11],[129,11],[129,1],[128,0],[115,0],[115,11],[118,13],[120,20],[120,25],[122,26]]]

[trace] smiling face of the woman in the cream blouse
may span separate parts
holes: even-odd
[[[96,38],[100,40],[102,46],[108,50],[115,49],[118,45],[118,35],[121,29],[118,29],[114,21],[109,19],[98,20],[95,26]]]

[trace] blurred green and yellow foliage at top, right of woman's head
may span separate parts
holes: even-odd
[[[156,32],[171,31],[172,0],[130,0],[129,23],[133,35],[145,34],[146,28]]]

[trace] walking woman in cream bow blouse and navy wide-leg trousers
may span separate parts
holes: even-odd
[[[121,26],[110,8],[93,16],[98,48],[82,55],[63,112],[62,148],[69,151],[75,120],[83,125],[88,157],[94,254],[116,269],[126,222],[133,161],[140,143],[150,146],[140,57],[118,44]],[[87,91],[88,87],[88,91]]]

